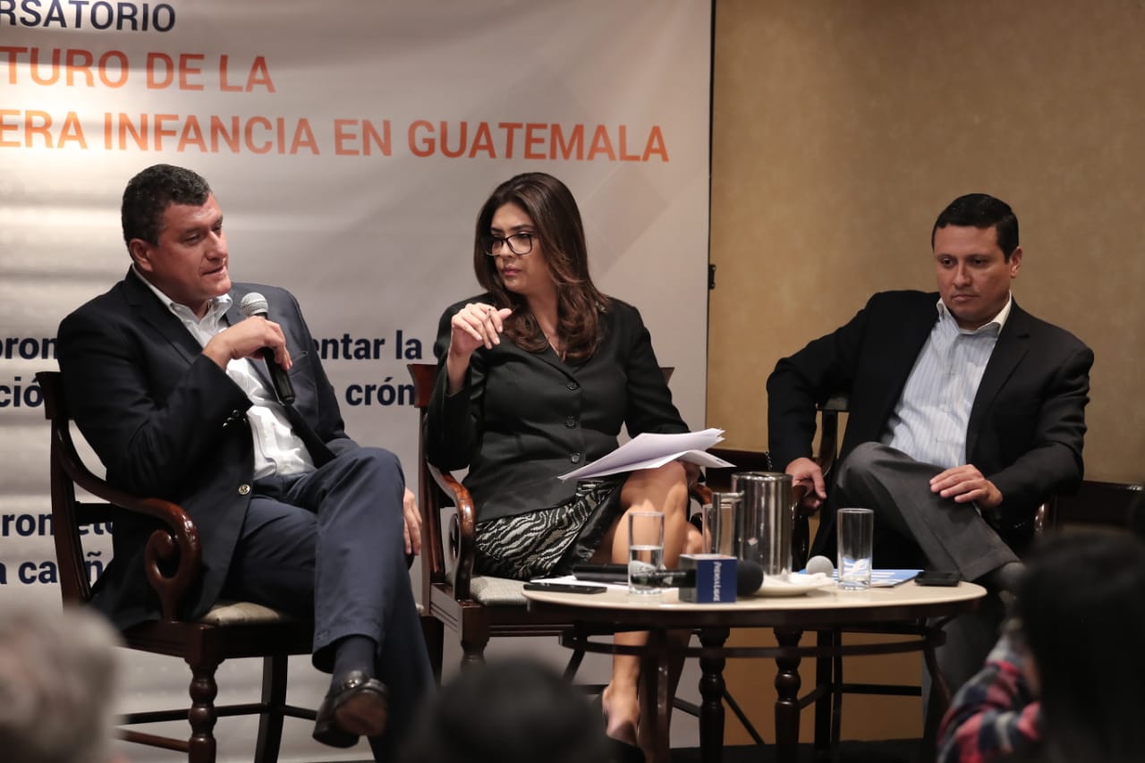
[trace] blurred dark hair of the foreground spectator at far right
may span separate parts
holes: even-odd
[[[1112,530],[1048,536],[1014,612],[1041,695],[1045,760],[1140,760],[1145,544]]]

